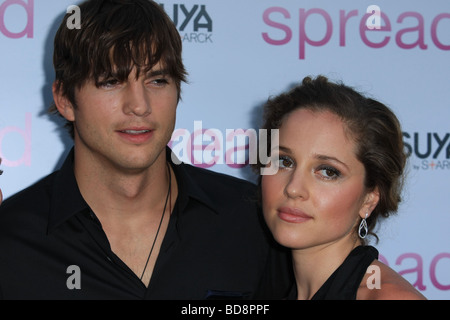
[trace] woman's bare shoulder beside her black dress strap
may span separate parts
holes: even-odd
[[[426,300],[400,274],[375,260],[361,281],[358,300]]]

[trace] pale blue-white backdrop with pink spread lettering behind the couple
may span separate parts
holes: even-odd
[[[158,2],[178,27],[190,74],[170,143],[178,156],[254,180],[248,136],[267,98],[307,75],[343,80],[397,113],[410,152],[404,202],[380,225],[381,259],[428,298],[449,299],[449,1]],[[46,110],[53,36],[77,3],[0,0],[4,197],[57,169],[70,149]]]

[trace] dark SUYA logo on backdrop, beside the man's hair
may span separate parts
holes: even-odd
[[[187,43],[212,43],[213,21],[206,5],[160,4],[180,32],[181,39]]]

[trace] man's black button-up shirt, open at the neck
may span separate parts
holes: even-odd
[[[81,196],[73,152],[59,171],[0,206],[0,298],[285,296],[291,266],[264,227],[253,184],[176,165],[168,149],[179,193],[147,288],[111,251]]]

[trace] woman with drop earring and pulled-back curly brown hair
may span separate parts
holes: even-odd
[[[406,156],[392,111],[319,76],[269,100],[264,120],[279,145],[269,146],[278,171],[261,176],[262,206],[292,249],[289,298],[424,299],[365,243],[400,202]]]

